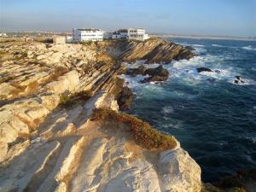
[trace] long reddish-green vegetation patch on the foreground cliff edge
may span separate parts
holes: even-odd
[[[94,110],[92,120],[101,122],[117,122],[131,127],[132,137],[137,144],[148,149],[172,149],[177,146],[174,137],[156,131],[151,125],[141,119],[137,119],[126,113],[117,113],[108,108],[98,108]]]

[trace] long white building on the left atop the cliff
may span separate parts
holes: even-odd
[[[103,31],[100,29],[73,29],[73,42],[102,41]]]

